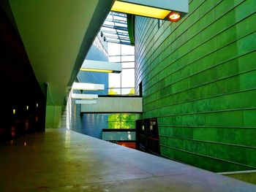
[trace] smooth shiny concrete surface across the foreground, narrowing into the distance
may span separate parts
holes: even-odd
[[[0,145],[0,191],[256,191],[256,185],[66,129]]]

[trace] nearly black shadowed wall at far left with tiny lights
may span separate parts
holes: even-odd
[[[34,76],[18,31],[2,9],[0,9],[0,82],[0,142],[29,131],[42,130],[45,122],[45,96]]]

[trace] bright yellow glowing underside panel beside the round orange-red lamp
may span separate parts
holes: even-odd
[[[170,14],[170,10],[147,7],[139,4],[115,1],[111,11],[125,12],[133,15],[141,15],[149,18],[165,19]]]

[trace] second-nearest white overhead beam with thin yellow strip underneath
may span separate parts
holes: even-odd
[[[108,61],[92,61],[92,60],[85,60],[83,61],[83,65],[80,70],[86,69],[95,69],[95,70],[105,70],[114,73],[120,73],[122,70],[121,63],[113,63]]]

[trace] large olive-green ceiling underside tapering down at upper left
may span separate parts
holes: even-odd
[[[113,0],[10,0],[26,53],[53,104],[63,105]]]

